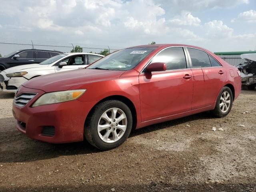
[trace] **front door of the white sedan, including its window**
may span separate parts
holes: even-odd
[[[66,62],[66,66],[59,67],[60,62]],[[68,58],[65,58],[58,62],[58,64],[55,66],[55,72],[62,72],[62,71],[69,71],[74,69],[80,69],[85,68],[87,59],[85,55],[75,55],[70,56]]]

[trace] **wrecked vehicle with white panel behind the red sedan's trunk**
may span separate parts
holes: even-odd
[[[242,54],[246,61],[236,67],[241,72],[243,90],[254,90],[256,87],[256,53]]]

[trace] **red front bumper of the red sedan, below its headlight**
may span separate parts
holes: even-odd
[[[38,94],[24,107],[18,107],[13,103],[12,112],[16,119],[16,128],[20,132],[30,138],[49,143],[68,143],[83,140],[86,116],[97,101],[80,102],[73,100],[31,107],[44,92],[21,86],[18,94],[22,92],[36,92]],[[49,127],[54,128],[54,135],[52,136],[44,134],[45,128]]]

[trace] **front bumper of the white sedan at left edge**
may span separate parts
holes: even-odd
[[[3,92],[12,92],[15,93],[16,89],[24,82],[27,81],[24,77],[12,77],[9,78],[6,76],[6,73],[1,72],[0,75],[0,90]]]

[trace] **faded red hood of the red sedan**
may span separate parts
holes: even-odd
[[[65,91],[75,85],[116,79],[123,73],[124,71],[78,69],[36,77],[22,86],[40,89],[44,92]]]

